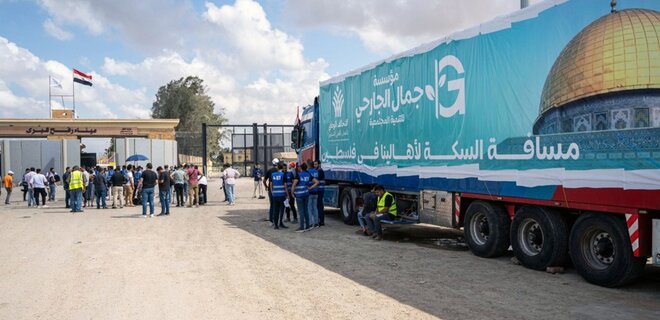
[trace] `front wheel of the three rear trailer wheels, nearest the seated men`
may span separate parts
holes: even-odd
[[[465,240],[479,257],[501,256],[509,248],[509,216],[502,207],[475,201],[465,214]]]

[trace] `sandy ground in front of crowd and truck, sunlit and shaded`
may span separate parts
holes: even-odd
[[[655,267],[605,289],[429,245],[456,237],[435,227],[378,242],[334,211],[321,229],[276,231],[251,188],[240,180],[230,207],[212,182],[207,206],[147,219],[73,215],[61,195],[30,209],[14,193],[0,207],[0,319],[660,319]]]

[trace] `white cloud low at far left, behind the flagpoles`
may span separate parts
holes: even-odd
[[[129,89],[111,83],[106,77],[91,72],[94,86],[76,86],[76,110],[83,118],[148,118],[151,99],[146,89]],[[71,94],[72,71],[58,61],[43,61],[29,50],[0,37],[0,116],[8,118],[49,117],[48,76],[62,82],[62,89],[52,88],[53,95]],[[17,92],[20,92],[17,93]],[[71,98],[64,105],[72,107]],[[55,106],[62,99],[53,97]]]

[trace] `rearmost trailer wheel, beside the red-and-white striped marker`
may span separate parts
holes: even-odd
[[[578,274],[604,287],[634,282],[646,265],[645,257],[633,255],[625,221],[613,214],[579,217],[571,229],[569,248]]]

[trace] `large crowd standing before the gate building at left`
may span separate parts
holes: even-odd
[[[165,165],[153,170],[148,163],[146,169],[131,164],[121,167],[67,167],[62,177],[51,168],[43,174],[39,168],[27,168],[21,179],[23,201],[29,207],[48,207],[48,201],[55,201],[57,183],[62,182],[65,192],[65,207],[71,212],[82,212],[83,208],[107,209],[107,200],[111,198],[112,208],[134,207],[142,204],[142,215],[153,216],[155,187],[158,185],[161,215],[170,213],[170,204],[174,203],[172,194],[176,193],[176,206],[188,207],[203,205],[207,202],[208,181],[198,167],[192,164],[171,167]],[[11,170],[2,179],[7,192],[5,204],[10,204],[10,197],[15,185],[14,172]],[[0,193],[1,194],[1,193]],[[41,204],[39,204],[41,196]]]

